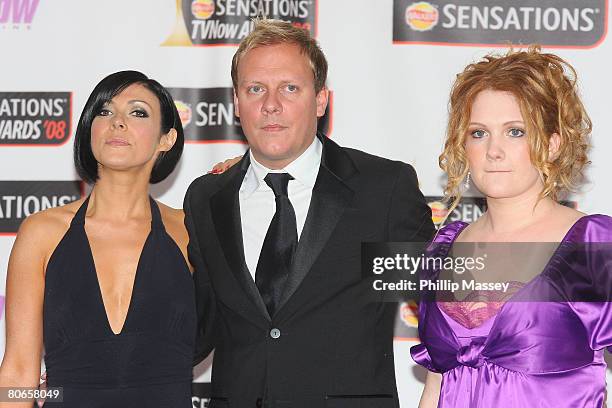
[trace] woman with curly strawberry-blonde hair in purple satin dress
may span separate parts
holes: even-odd
[[[457,76],[449,110],[445,194],[454,206],[473,183],[488,208],[472,224],[443,227],[427,255],[480,257],[472,281],[507,286],[425,293],[421,344],[411,349],[429,370],[419,407],[602,407],[612,218],[557,201],[589,162],[591,121],[574,69],[537,47],[489,55]],[[431,281],[459,274],[423,271]]]

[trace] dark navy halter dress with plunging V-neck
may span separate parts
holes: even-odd
[[[85,233],[89,199],[55,248],[45,276],[43,330],[49,387],[45,407],[191,407],[196,315],[193,280],[150,198],[145,241],[123,328],[108,322]]]

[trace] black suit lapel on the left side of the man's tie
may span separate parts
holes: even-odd
[[[259,290],[251,277],[244,257],[239,191],[248,167],[249,158],[247,153],[240,163],[227,172],[227,182],[210,199],[210,210],[225,260],[234,277],[240,283],[240,286],[253,302],[256,309],[266,319],[270,320],[266,306],[259,295]]]

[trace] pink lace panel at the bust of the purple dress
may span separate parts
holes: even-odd
[[[522,282],[508,283],[510,286],[507,293],[475,290],[461,301],[437,302],[438,307],[463,327],[473,329],[495,316],[504,303],[525,286]]]

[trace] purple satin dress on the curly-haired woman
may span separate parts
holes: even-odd
[[[448,253],[467,226],[444,227],[433,244]],[[612,243],[612,218],[588,215],[564,243]],[[446,245],[445,245],[446,244]],[[612,248],[612,245],[610,245]],[[575,302],[572,290],[612,291],[612,251],[589,258],[557,249],[542,273],[516,295],[550,290],[547,276],[563,276],[555,290],[567,301],[508,301],[472,329],[443,313],[436,302],[419,305],[419,337],[412,358],[442,374],[441,408],[602,407],[606,393],[604,348],[612,348],[612,302]],[[562,275],[561,275],[562,274]],[[573,288],[573,289],[572,289]],[[611,350],[612,351],[612,350]]]

